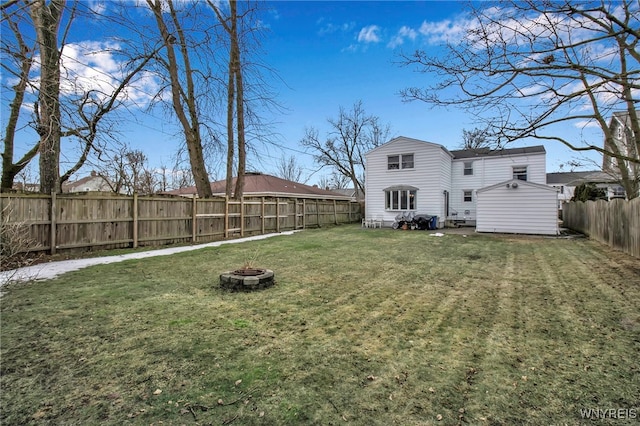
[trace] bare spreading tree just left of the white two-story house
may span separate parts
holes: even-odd
[[[364,154],[386,142],[391,133],[389,125],[381,125],[378,117],[368,115],[362,101],[354,103],[351,110],[340,107],[338,118],[327,121],[331,130],[325,139],[309,127],[301,144],[313,151],[318,164],[334,168],[364,194]]]

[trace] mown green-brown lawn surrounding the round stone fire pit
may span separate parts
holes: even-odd
[[[276,285],[217,288],[247,261]],[[5,290],[6,425],[640,419],[640,262],[586,239],[342,226]]]

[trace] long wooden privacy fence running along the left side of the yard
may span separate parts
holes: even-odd
[[[101,249],[227,238],[360,221],[348,200],[0,194],[0,223],[20,227],[28,251]]]

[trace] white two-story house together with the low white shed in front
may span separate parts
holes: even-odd
[[[478,230],[556,233],[557,196],[546,186],[545,169],[543,146],[449,151],[398,137],[366,154],[366,216],[389,225],[399,213],[414,212],[438,216],[440,227],[447,221],[474,224],[482,219]],[[532,200],[529,207],[522,200],[511,201],[525,193],[525,200]],[[540,206],[543,211],[536,210]],[[494,213],[482,214],[481,207]],[[501,212],[509,215],[507,222],[511,217],[523,224],[544,217],[545,224],[539,230],[517,224],[501,230],[492,221]]]

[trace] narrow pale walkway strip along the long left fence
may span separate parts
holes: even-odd
[[[185,247],[172,247],[159,250],[143,251],[139,253],[122,254],[117,256],[93,257],[89,259],[63,260],[59,262],[41,263],[10,271],[0,272],[0,287],[9,282],[24,282],[32,280],[50,280],[65,272],[77,271],[93,265],[122,262],[129,259],[144,259],[154,256],[169,256],[185,251],[200,250],[205,247],[218,247],[223,244],[244,243],[245,241],[264,240],[278,235],[292,235],[298,231],[287,231],[274,234],[256,235],[254,237],[238,238],[235,240],[214,241],[212,243],[198,244]]]

